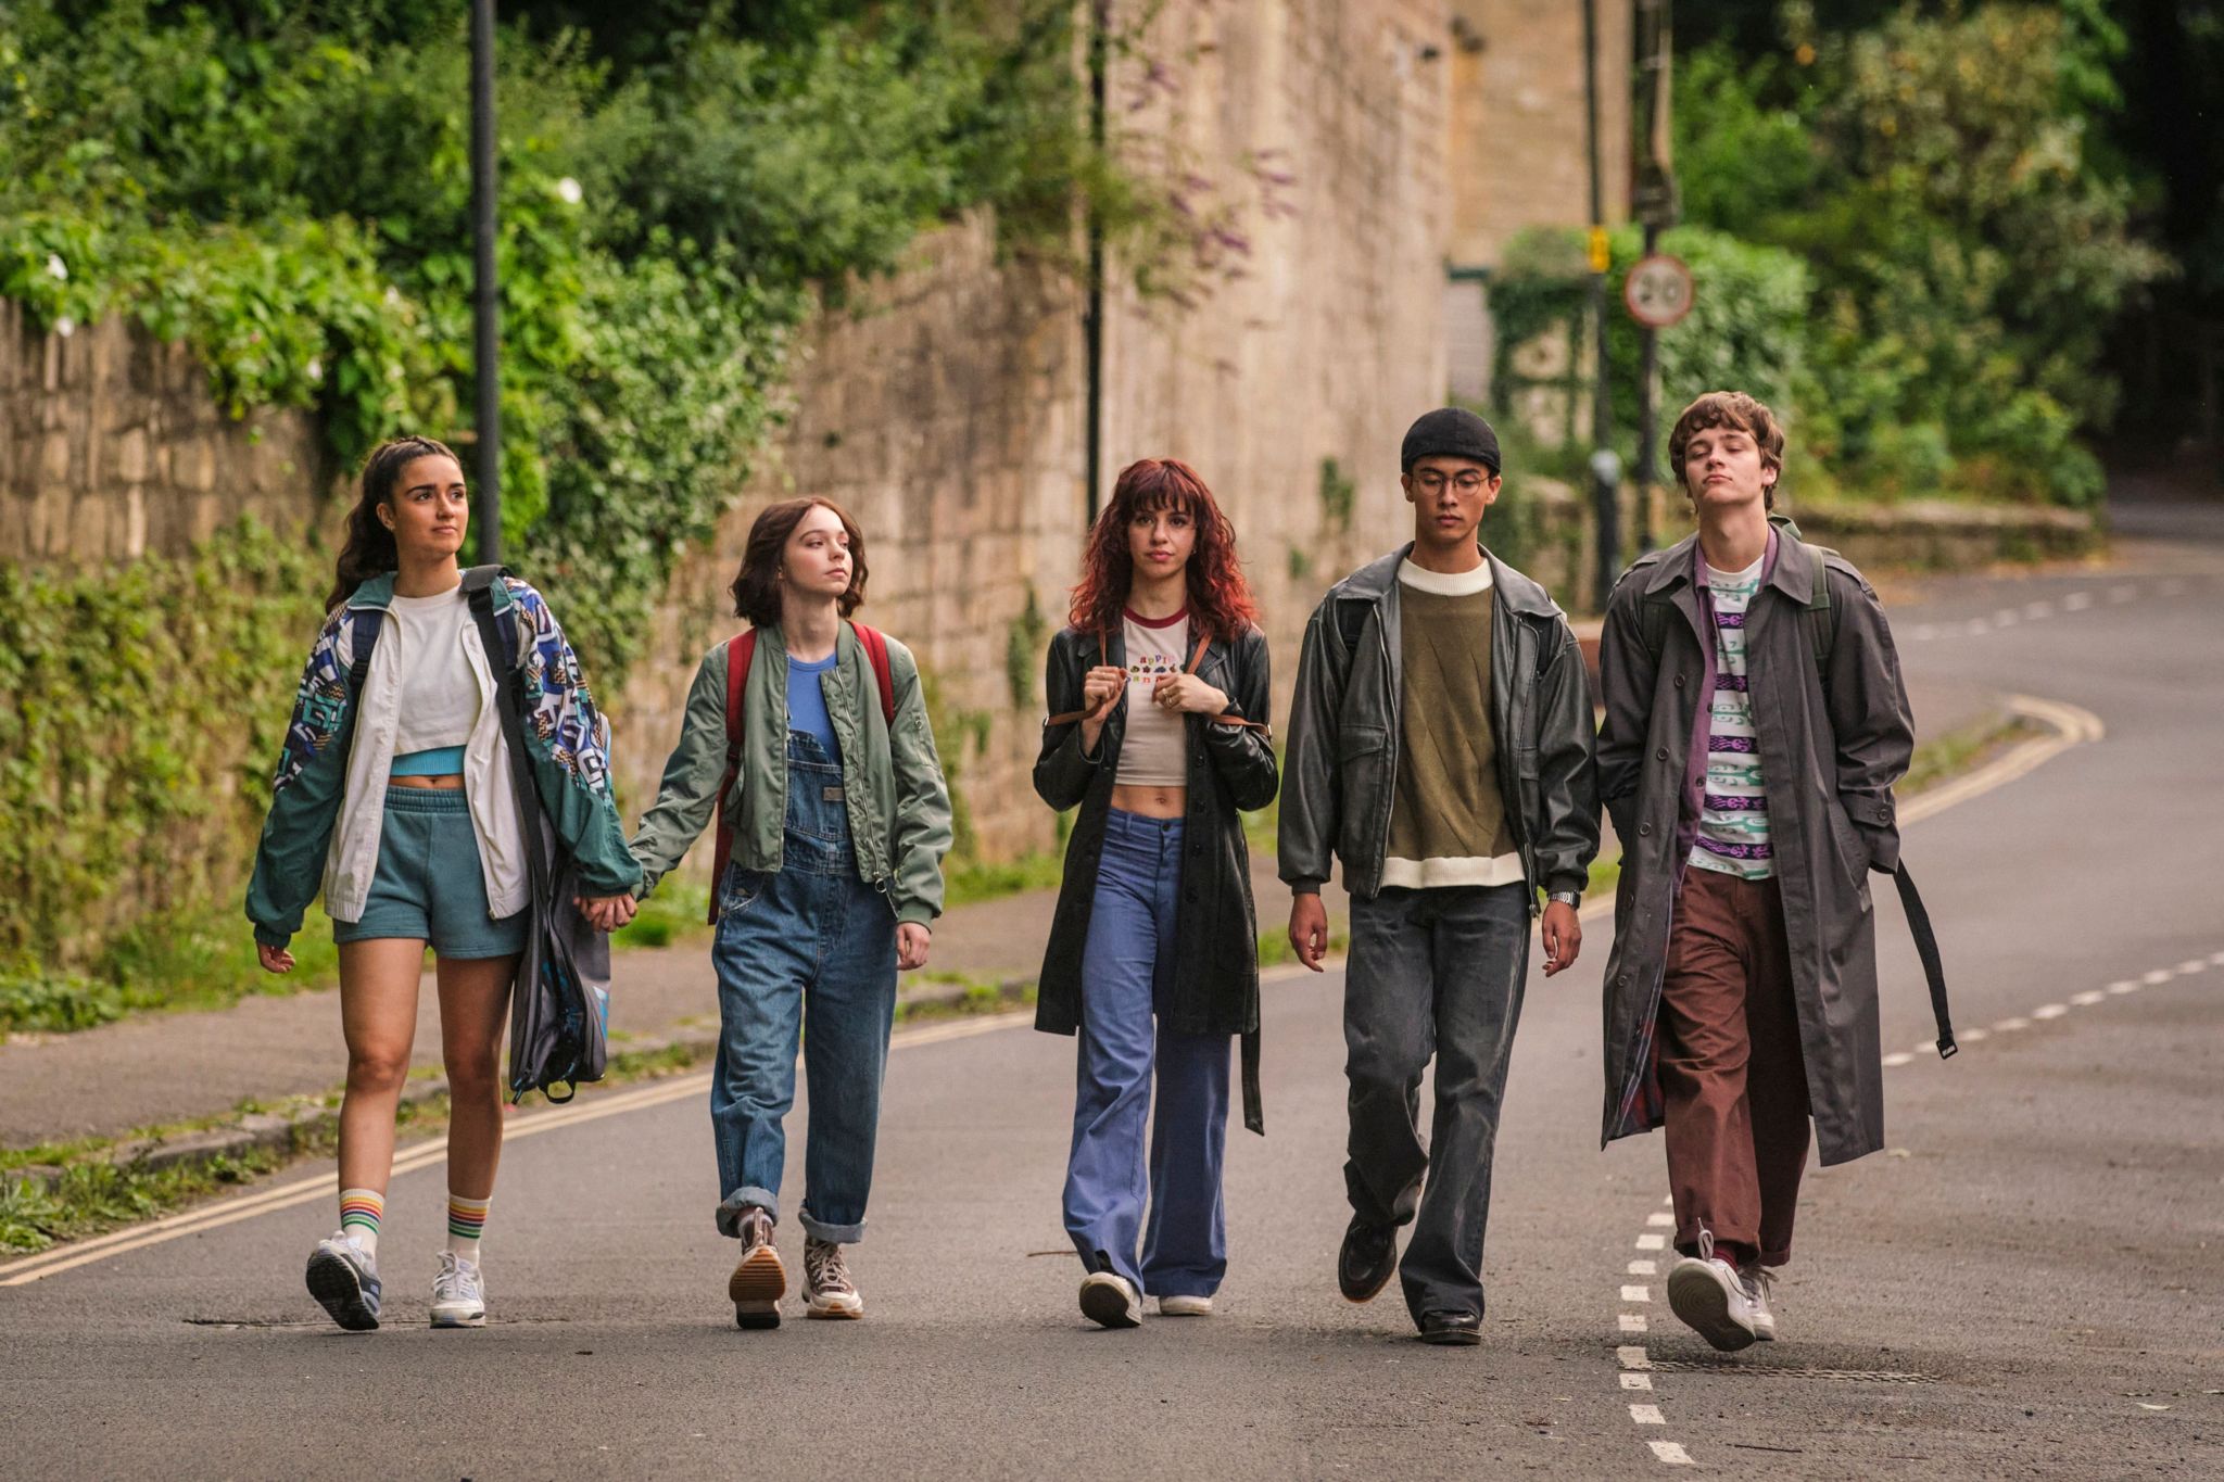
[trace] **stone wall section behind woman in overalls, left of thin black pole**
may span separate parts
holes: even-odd
[[[996,858],[1048,840],[1027,784],[1043,642],[1023,615],[1032,602],[1056,629],[1072,580],[1083,384],[1076,291],[999,264],[987,220],[927,236],[907,273],[821,318],[794,364],[787,429],[712,542],[681,562],[654,640],[609,704],[629,807],[654,795],[705,649],[741,627],[727,587],[749,524],[774,500],[821,493],[865,529],[858,620],[907,642],[932,678],[976,849]],[[707,853],[687,869],[707,869]]]

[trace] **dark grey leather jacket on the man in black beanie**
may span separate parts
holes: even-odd
[[[1399,562],[1410,544],[1328,589],[1305,624],[1281,780],[1281,880],[1299,895],[1343,860],[1352,895],[1381,891],[1403,744]],[[1599,853],[1590,680],[1566,613],[1497,555],[1490,562],[1490,724],[1499,795],[1535,893],[1581,891]]]

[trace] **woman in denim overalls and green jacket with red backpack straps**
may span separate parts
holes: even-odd
[[[812,1111],[803,1304],[865,1315],[843,1246],[865,1238],[896,971],[925,967],[943,909],[950,787],[912,651],[850,620],[865,602],[856,520],[818,498],[770,507],[732,593],[749,627],[703,655],[634,855],[647,891],[718,813],[716,1220],[741,1242],[734,1322],[772,1329],[787,1295],[772,1231],[798,1038]]]

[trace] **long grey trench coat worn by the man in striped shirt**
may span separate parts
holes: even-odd
[[[1915,727],[1877,593],[1841,555],[1770,538],[1746,611],[1746,673],[1768,780],[1784,929],[1790,938],[1808,1104],[1826,1164],[1884,1146],[1877,1042],[1877,933],[1868,873],[1899,862],[1893,784]],[[1697,582],[1699,538],[1632,564],[1599,640],[1606,722],[1599,800],[1621,835],[1615,947],[1606,962],[1606,1126],[1601,1144],[1661,1124],[1657,1024],[1668,924],[1697,831],[1704,720],[1715,689],[1712,613]],[[1810,613],[1826,562],[1835,638],[1817,667]],[[1659,662],[1644,604],[1664,602]],[[1697,740],[1697,749],[1695,749]],[[1697,751],[1697,755],[1695,755]],[[1692,767],[1697,762],[1697,767]]]

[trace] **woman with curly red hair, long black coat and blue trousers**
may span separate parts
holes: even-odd
[[[1121,471],[1070,627],[1050,642],[1045,691],[1034,791],[1081,815],[1034,1027],[1081,1038],[1065,1166],[1081,1311],[1136,1326],[1148,1293],[1165,1315],[1203,1315],[1228,1271],[1230,1035],[1243,1035],[1243,1124],[1263,1131],[1241,813],[1274,800],[1277,764],[1265,635],[1234,527],[1188,464]]]

